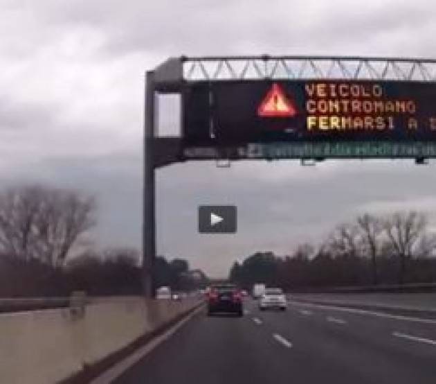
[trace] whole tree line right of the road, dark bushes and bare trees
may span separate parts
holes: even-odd
[[[325,241],[290,255],[257,252],[235,262],[229,278],[246,288],[257,281],[283,288],[436,282],[436,235],[424,213],[365,213],[338,225]]]

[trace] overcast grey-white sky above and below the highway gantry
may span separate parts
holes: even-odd
[[[0,0],[0,180],[99,203],[96,247],[140,247],[143,73],[169,56],[435,56],[429,0]],[[170,118],[169,118],[170,119]],[[436,213],[436,169],[412,162],[181,164],[158,171],[158,252],[212,276],[289,254],[361,211]],[[236,204],[236,236],[197,234],[197,205]]]

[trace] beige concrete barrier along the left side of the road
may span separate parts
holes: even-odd
[[[0,383],[56,383],[199,304],[141,297],[91,299],[69,308],[0,315]]]

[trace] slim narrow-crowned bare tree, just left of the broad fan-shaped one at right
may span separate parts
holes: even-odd
[[[357,224],[362,231],[362,242],[365,245],[365,250],[371,257],[372,266],[372,283],[379,283],[377,271],[377,256],[379,255],[380,238],[383,233],[383,225],[381,220],[365,213],[357,218]]]

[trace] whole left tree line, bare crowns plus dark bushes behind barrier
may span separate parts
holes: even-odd
[[[0,297],[140,295],[140,254],[134,248],[96,251],[96,200],[69,189],[17,186],[0,192]],[[156,286],[190,290],[207,277],[187,261],[156,258]]]

